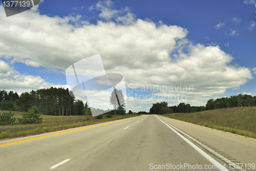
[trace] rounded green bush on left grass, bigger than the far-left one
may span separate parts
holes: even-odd
[[[32,106],[28,112],[23,113],[22,118],[18,118],[20,124],[42,123],[42,117],[39,110]]]

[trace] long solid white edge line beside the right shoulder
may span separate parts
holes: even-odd
[[[155,116],[157,117],[157,116]],[[157,119],[159,119],[157,117]],[[161,119],[159,119],[161,122],[163,122]],[[164,123],[164,122],[163,122]],[[221,165],[221,163],[219,163],[218,161],[216,161],[214,158],[210,157],[207,153],[205,153],[204,151],[202,151],[202,149],[200,149],[198,146],[196,146],[195,144],[193,144],[192,142],[190,142],[188,139],[186,139],[184,136],[182,136],[180,133],[178,133],[176,130],[174,130],[172,127],[170,127],[169,125],[167,125],[166,123],[164,123],[166,126],[169,127],[169,129],[173,130],[173,132],[175,132],[178,136],[180,136],[184,141],[186,141],[190,146],[192,146],[194,149],[196,149],[196,151],[198,153],[200,153],[204,158],[206,158],[209,162],[211,162],[211,164],[217,165],[219,170],[222,171],[229,171],[227,168],[222,168],[223,166]],[[177,129],[178,130],[178,129]]]

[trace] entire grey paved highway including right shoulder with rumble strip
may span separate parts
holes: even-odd
[[[254,139],[155,115],[0,141],[0,171],[237,170],[227,162],[255,159]]]

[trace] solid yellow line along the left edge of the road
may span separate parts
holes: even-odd
[[[70,130],[70,131],[64,131],[64,132],[55,133],[55,134],[49,134],[49,135],[44,135],[44,136],[39,136],[39,137],[34,137],[34,138],[28,138],[28,139],[24,139],[24,140],[18,140],[18,141],[13,141],[13,142],[7,142],[7,143],[0,144],[0,146],[6,146],[6,145],[11,145],[11,144],[17,144],[17,143],[20,143],[20,142],[26,142],[26,141],[36,140],[36,139],[45,138],[45,137],[50,137],[50,136],[54,136],[54,135],[70,133],[70,132],[74,132],[74,131],[79,131],[79,130],[88,129],[88,128],[90,128],[90,127],[105,125],[105,124],[114,123],[114,122],[119,122],[119,121],[123,121],[123,120],[127,120],[127,119],[137,118],[137,117],[140,117],[140,116],[131,117],[131,118],[126,118],[126,119],[122,119],[122,120],[116,120],[116,121],[107,122],[107,123],[101,123],[101,124],[92,125],[92,126],[88,126],[88,127],[82,127],[82,128],[79,128],[79,129]]]

